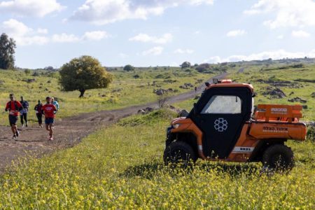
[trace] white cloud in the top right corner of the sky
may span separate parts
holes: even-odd
[[[315,26],[315,1],[313,0],[259,0],[244,13],[248,15],[275,14],[274,19],[264,22],[264,25],[271,29]]]

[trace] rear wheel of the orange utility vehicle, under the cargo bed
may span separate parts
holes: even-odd
[[[290,171],[294,167],[293,152],[288,146],[274,144],[262,155],[262,164],[276,172]]]

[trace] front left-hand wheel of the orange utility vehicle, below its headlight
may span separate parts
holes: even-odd
[[[163,160],[165,165],[181,165],[181,167],[187,168],[196,162],[197,157],[189,144],[175,141],[165,148]]]

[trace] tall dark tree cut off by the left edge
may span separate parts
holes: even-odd
[[[0,36],[0,69],[13,69],[15,41],[6,34]]]

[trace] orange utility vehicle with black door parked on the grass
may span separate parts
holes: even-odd
[[[188,116],[167,128],[165,164],[189,165],[201,158],[292,169],[293,152],[284,142],[304,141],[302,106],[260,104],[253,113],[253,85],[214,81]]]

